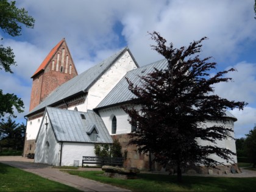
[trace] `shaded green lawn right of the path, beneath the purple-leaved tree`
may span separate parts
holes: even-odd
[[[104,171],[65,171],[80,177],[97,180],[132,191],[255,191],[256,177],[199,177],[182,176],[183,182],[177,182],[177,176],[163,174],[138,174],[138,179],[116,179],[102,175]]]

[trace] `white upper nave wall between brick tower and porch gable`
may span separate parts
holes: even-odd
[[[35,140],[35,138],[37,137],[37,133],[40,128],[42,119],[43,119],[43,116],[27,121],[27,128],[26,128],[27,140]]]

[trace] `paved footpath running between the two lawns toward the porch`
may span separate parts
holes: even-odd
[[[41,163],[34,163],[33,159],[27,159],[20,156],[0,156],[0,162],[10,166],[14,166],[16,168],[23,169],[27,172],[32,172],[34,174],[37,174],[38,176],[47,179],[69,185],[81,191],[129,191],[123,188],[115,187],[113,185],[108,185],[101,182],[96,182],[94,180],[73,176],[66,172],[62,172],[59,169],[52,168],[52,166]],[[89,168],[83,169],[85,171],[90,170]]]

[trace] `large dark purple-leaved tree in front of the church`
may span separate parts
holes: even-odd
[[[163,55],[168,62],[167,69],[157,70],[141,77],[141,85],[134,85],[129,79],[129,90],[135,94],[130,102],[140,105],[140,110],[124,108],[137,122],[137,131],[130,133],[129,144],[137,144],[138,152],[154,154],[155,160],[164,166],[169,162],[177,166],[177,179],[182,180],[182,167],[188,163],[207,166],[223,165],[209,157],[215,154],[232,162],[234,152],[221,148],[217,140],[231,137],[232,129],[221,126],[199,127],[206,119],[221,119],[227,109],[243,109],[245,102],[228,101],[214,94],[213,85],[228,82],[223,74],[235,71],[231,68],[210,76],[210,69],[216,63],[208,63],[211,57],[200,59],[201,42],[190,43],[188,48],[176,49],[172,43],[166,46],[165,38],[157,32],[151,35],[157,45],[152,49]],[[132,123],[132,121],[130,121]],[[201,146],[197,140],[212,142]]]

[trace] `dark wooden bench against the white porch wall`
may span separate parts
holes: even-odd
[[[82,167],[84,164],[98,164],[101,166],[112,165],[112,166],[123,166],[123,157],[88,157],[83,156]]]

